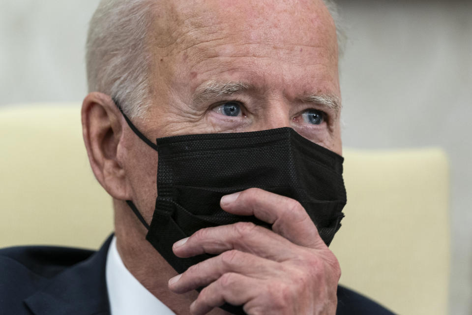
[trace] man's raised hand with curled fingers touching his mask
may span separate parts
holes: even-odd
[[[169,281],[176,293],[205,286],[191,314],[207,314],[225,302],[243,305],[249,315],[335,314],[339,263],[297,201],[252,188],[224,196],[221,208],[254,215],[272,230],[238,222],[201,229],[174,244],[178,257],[218,254]]]

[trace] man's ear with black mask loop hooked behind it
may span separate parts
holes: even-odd
[[[82,132],[96,179],[114,198],[130,199],[125,171],[118,158],[123,119],[109,95],[92,92],[82,103]]]

